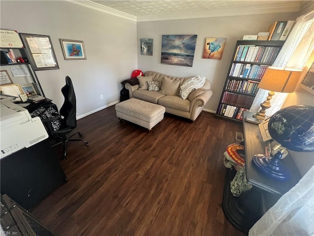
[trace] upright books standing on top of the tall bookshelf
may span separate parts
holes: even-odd
[[[268,40],[285,41],[295,21],[276,21],[269,28]]]

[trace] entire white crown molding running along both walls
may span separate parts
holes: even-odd
[[[101,5],[90,0],[67,0],[73,4],[77,4],[89,9],[104,12],[110,15],[121,17],[135,22],[146,21],[164,21],[164,20],[183,20],[183,19],[196,19],[196,18],[209,18],[209,17],[222,17],[222,16],[242,16],[242,15],[256,15],[256,14],[273,14],[285,12],[299,12],[300,4],[296,2],[286,2],[280,4],[272,4],[263,7],[245,7],[233,9],[221,9],[213,11],[199,11],[188,13],[174,13],[174,14],[159,14],[153,16],[133,16],[122,11],[112,9],[110,7]]]

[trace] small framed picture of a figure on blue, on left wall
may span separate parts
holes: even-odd
[[[60,38],[60,44],[65,60],[86,59],[83,41]]]

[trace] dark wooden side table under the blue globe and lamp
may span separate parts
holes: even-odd
[[[245,117],[252,115],[252,113],[244,112],[243,132],[246,179],[253,185],[253,188],[242,193],[239,197],[234,197],[230,190],[230,182],[235,176],[235,171],[227,169],[222,205],[229,222],[235,228],[245,233],[301,178],[289,154],[282,160],[291,175],[287,181],[268,177],[254,166],[252,163],[253,156],[255,154],[264,154],[267,142],[262,141],[260,129],[257,124],[245,121]]]

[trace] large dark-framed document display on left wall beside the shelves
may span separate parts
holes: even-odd
[[[20,33],[34,70],[59,69],[49,35]]]

